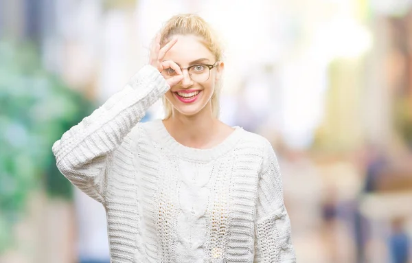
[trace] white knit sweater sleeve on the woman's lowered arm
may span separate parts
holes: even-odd
[[[255,215],[255,263],[296,262],[279,163],[266,141]]]

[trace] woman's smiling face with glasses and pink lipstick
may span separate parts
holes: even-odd
[[[221,76],[223,63],[216,63],[214,54],[203,45],[198,36],[174,37],[178,38],[178,41],[164,57],[164,60],[172,60],[181,67],[183,73],[183,80],[165,94],[173,106],[173,114],[193,116],[201,111],[210,111],[211,114],[211,95],[214,93],[216,80]],[[209,70],[204,65],[216,67]],[[191,68],[186,69],[187,67]]]

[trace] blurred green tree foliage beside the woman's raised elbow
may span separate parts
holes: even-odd
[[[0,253],[10,246],[12,225],[32,190],[71,198],[52,145],[92,108],[42,68],[33,46],[0,42]]]

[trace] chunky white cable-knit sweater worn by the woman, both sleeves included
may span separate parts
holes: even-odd
[[[170,87],[146,65],[53,146],[106,209],[111,262],[296,262],[271,144],[236,127],[211,149],[139,123]]]

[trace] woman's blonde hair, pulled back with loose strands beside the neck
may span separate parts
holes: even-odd
[[[163,47],[170,38],[176,34],[199,36],[203,38],[202,43],[214,54],[216,61],[222,60],[222,47],[218,41],[216,32],[210,27],[210,25],[196,14],[177,14],[172,16],[160,31],[161,39],[160,45]],[[213,95],[211,95],[211,109],[214,117],[219,117],[220,105],[219,95],[221,90],[221,82],[216,85]],[[163,96],[163,107],[165,111],[165,119],[172,116],[173,106]]]

